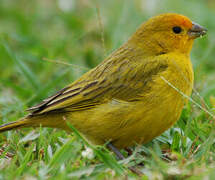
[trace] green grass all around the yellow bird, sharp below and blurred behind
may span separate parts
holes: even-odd
[[[214,114],[215,108],[213,1],[73,0],[71,7],[61,7],[66,0],[0,2],[1,124],[21,118],[27,107],[95,67],[150,16],[182,13],[209,29],[191,55],[195,103],[162,136],[117,162],[105,147],[89,145],[77,131],[6,132],[0,134],[0,179],[135,179],[127,167],[140,163],[142,179],[213,179],[214,119],[205,112]]]

